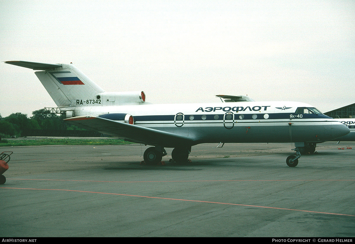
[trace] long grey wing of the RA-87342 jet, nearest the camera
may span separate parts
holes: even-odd
[[[76,126],[97,131],[107,135],[125,139],[129,142],[142,143],[146,145],[164,145],[175,148],[181,145],[192,145],[193,139],[184,135],[170,132],[158,131],[151,128],[127,124],[120,121],[108,120],[94,116],[79,116],[67,118],[64,121]]]

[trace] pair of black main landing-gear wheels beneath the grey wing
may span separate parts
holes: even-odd
[[[171,152],[171,157],[177,163],[187,162],[190,151],[191,151],[191,147],[174,148],[173,151]],[[150,148],[147,148],[146,151],[144,151],[143,160],[146,164],[156,165],[160,161],[162,161],[163,156],[165,156],[166,154],[167,153],[163,147],[151,146]]]

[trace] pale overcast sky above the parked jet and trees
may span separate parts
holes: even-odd
[[[0,1],[0,61],[72,62],[152,103],[353,104],[355,1]],[[0,63],[0,114],[56,107],[31,69]]]

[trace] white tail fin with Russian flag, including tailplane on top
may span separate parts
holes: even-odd
[[[92,99],[104,90],[72,64],[7,61],[33,70],[58,107],[76,106],[78,99]]]

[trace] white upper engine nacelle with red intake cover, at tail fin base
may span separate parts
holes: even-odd
[[[103,92],[95,95],[103,105],[137,105],[146,101],[143,91]]]

